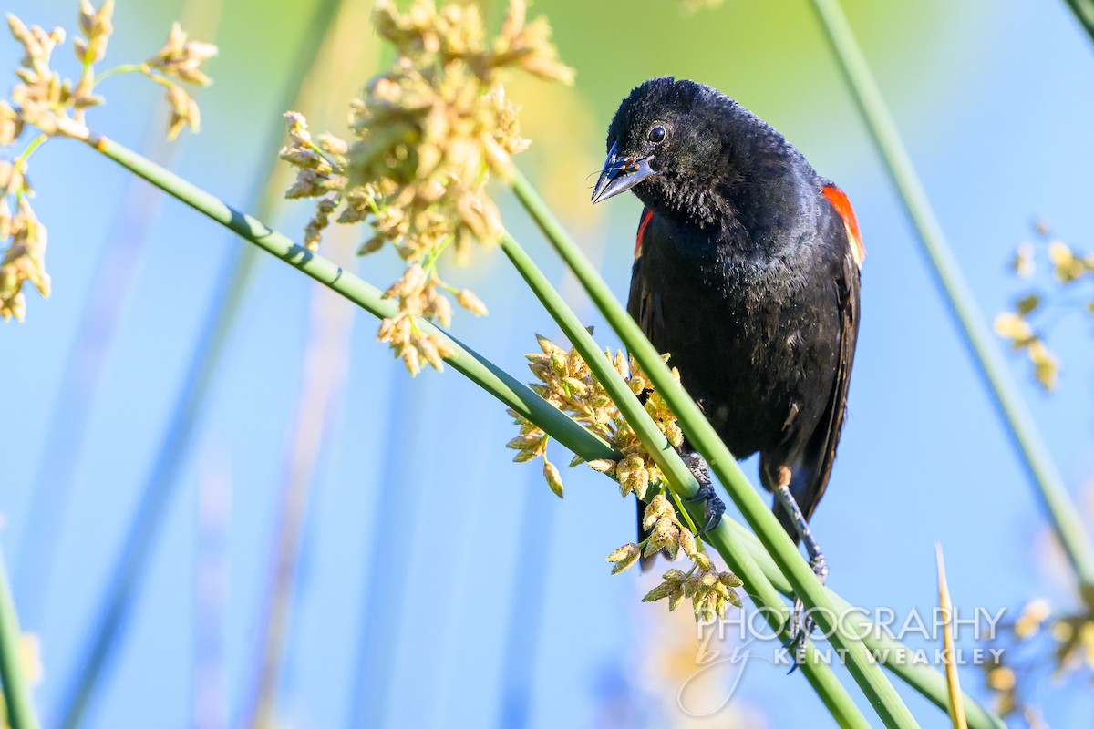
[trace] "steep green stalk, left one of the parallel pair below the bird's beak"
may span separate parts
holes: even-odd
[[[562,333],[581,354],[593,376],[607,391],[608,397],[619,408],[619,412],[635,431],[635,435],[638,436],[642,446],[668,479],[668,487],[687,503],[686,499],[695,496],[699,491],[695,475],[684,465],[679,454],[657,428],[656,423],[653,422],[639,399],[631,392],[622,376],[616,372],[610,360],[605,356],[604,350],[593,340],[593,336],[585,329],[581,319],[551,285],[535,261],[509,233],[502,234],[501,249],[524,278],[539,303],[550,313]],[[699,524],[702,522],[702,506],[700,504],[688,504],[688,510],[691,513],[693,519]],[[713,538],[709,540],[711,545],[718,550],[730,568],[742,578],[748,596],[763,609],[763,615],[771,630],[781,635],[784,640],[789,640],[790,625],[789,621],[785,620],[785,607],[779,593],[771,587],[770,580],[748,557],[747,552],[734,543],[735,536],[732,531],[729,529],[719,530],[710,537]],[[812,646],[810,651],[802,666],[803,673],[829,713],[841,727],[869,727],[869,722],[856,707],[847,690],[839,683],[831,668],[823,661],[815,660],[816,655],[813,652]]]

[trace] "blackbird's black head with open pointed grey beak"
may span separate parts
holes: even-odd
[[[724,205],[718,188],[732,152],[726,124],[734,111],[744,110],[694,81],[663,77],[638,86],[608,127],[593,202],[632,189],[650,208],[712,221]]]

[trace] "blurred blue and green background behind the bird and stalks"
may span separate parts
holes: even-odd
[[[557,97],[545,95],[557,92],[543,86],[514,89],[525,104],[525,129],[540,148],[519,163],[549,188],[622,297],[640,204],[628,197],[593,211],[585,177],[603,157],[603,129],[619,99],[645,78],[675,74],[718,86],[778,127],[848,192],[869,250],[851,416],[814,520],[831,565],[829,584],[854,604],[929,609],[939,541],[959,608],[994,610],[1040,595],[1066,601],[1067,575],[1028,479],[808,3],[738,0],[695,15],[676,4],[645,0],[624,12],[617,3],[536,3],[533,12],[551,20],[578,82],[562,96],[566,107],[550,107]],[[1063,2],[845,4],[991,317],[1020,290],[1006,261],[1029,238],[1035,217],[1075,245],[1091,240],[1094,47]],[[221,56],[210,64],[217,83],[200,95],[201,134],[183,136],[181,175],[229,202],[247,199],[254,171],[276,154],[264,140],[282,110],[291,49],[313,5],[225,1]],[[45,26],[74,26],[70,0],[14,0],[8,10]],[[177,14],[175,2],[123,0],[108,60],[150,56]],[[375,43],[368,27],[360,35],[362,46]],[[13,43],[0,45],[0,66],[18,57]],[[70,51],[57,57],[72,70]],[[140,146],[149,126],[160,124],[159,91],[130,78],[103,91],[109,103],[92,117],[95,129]],[[337,125],[336,118],[329,126],[339,131]],[[47,302],[28,294],[26,322],[7,325],[0,344],[8,383],[0,545],[15,574],[34,556],[22,546],[32,484],[57,454],[49,423],[55,409],[66,412],[58,384],[131,184],[109,161],[65,140],[35,154],[31,174],[35,209],[49,227],[54,294]],[[589,322],[601,325],[521,211],[499,197],[513,233]],[[40,611],[22,615],[42,640],[45,680],[36,699],[53,720],[219,271],[245,245],[176,202],[150,199],[156,215],[133,254],[131,290],[118,282],[124,306],[70,492],[63,509],[54,505],[47,599]],[[306,205],[287,204],[274,222],[296,235],[306,214]],[[394,280],[388,252],[364,259],[361,274],[381,286]],[[456,336],[524,377],[533,332],[556,329],[503,257],[486,251],[446,278],[475,290],[491,309],[481,320],[457,315]],[[314,287],[276,260],[259,262],[88,726],[190,722],[202,478],[230,481],[221,555],[229,583],[214,620],[222,621],[223,712],[233,726],[245,715]],[[667,622],[663,604],[639,602],[652,577],[609,577],[603,561],[633,537],[630,502],[584,469],[563,473],[565,501],[551,496],[538,467],[509,462],[501,446],[512,427],[497,402],[451,371],[411,381],[374,342],[375,327],[363,313],[354,317],[349,376],[312,482],[279,716],[289,726],[358,726],[357,699],[372,707],[370,725],[377,726],[521,726],[522,717],[533,727],[690,726],[672,713],[678,680],[657,668],[666,646],[687,635],[687,623]],[[596,331],[616,344],[606,327]],[[1058,396],[1041,396],[1020,360],[1012,369],[1090,522],[1090,321],[1061,322],[1050,343],[1064,363]],[[561,452],[555,459],[567,461]],[[753,465],[746,471],[755,475]],[[26,580],[35,590],[46,585],[37,574]],[[22,603],[19,590],[16,583]],[[963,680],[978,691],[976,669]],[[1046,707],[1052,726],[1090,726],[1094,702],[1082,689],[1076,682],[1054,694]],[[947,725],[923,699],[903,693],[924,727]],[[377,696],[386,707],[379,714]],[[745,671],[725,713],[696,726],[725,726],[733,717],[744,721],[737,726],[828,720],[800,675],[760,662]]]

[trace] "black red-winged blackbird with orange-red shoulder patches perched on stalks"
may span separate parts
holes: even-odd
[[[831,474],[859,329],[851,205],[782,134],[691,81],[635,89],[607,146],[593,202],[632,190],[645,203],[627,308],[733,455],[759,451],[779,521],[823,577],[806,521]],[[721,504],[703,495],[710,527]]]

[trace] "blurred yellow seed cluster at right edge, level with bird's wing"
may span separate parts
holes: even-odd
[[[1094,255],[1076,251],[1062,240],[1054,238],[1047,227],[1038,224],[1037,233],[1040,248],[1051,271],[1046,285],[1019,296],[1012,310],[1002,311],[996,317],[996,332],[1010,341],[1016,352],[1025,352],[1033,363],[1034,377],[1045,390],[1052,390],[1059,379],[1059,362],[1045,344],[1040,327],[1047,327],[1050,321],[1046,314],[1055,309],[1056,315],[1067,315],[1078,308],[1074,294],[1079,293],[1081,306],[1087,315],[1094,317]],[[1037,273],[1037,246],[1023,243],[1019,246],[1011,263],[1014,273],[1023,280],[1032,280]],[[1072,296],[1063,299],[1055,296],[1067,292]],[[1038,322],[1037,319],[1040,319]],[[1058,316],[1052,320],[1058,320]]]

